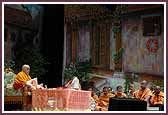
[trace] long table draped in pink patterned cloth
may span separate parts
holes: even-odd
[[[90,111],[90,91],[36,89],[32,91],[33,111]]]

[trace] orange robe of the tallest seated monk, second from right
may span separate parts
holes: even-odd
[[[140,100],[143,100],[143,101],[148,96],[152,96],[152,92],[151,92],[151,90],[149,88],[146,88],[145,90],[141,90],[140,89],[140,90],[137,90],[137,91],[134,92],[134,97],[138,98]]]

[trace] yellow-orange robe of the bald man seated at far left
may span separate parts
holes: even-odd
[[[19,88],[21,88],[23,85],[26,84],[27,81],[31,80],[31,77],[26,74],[25,72],[21,71],[19,72],[16,77],[15,77],[15,81],[14,81],[14,88],[17,90]]]

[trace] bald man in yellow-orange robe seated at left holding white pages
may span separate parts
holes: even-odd
[[[22,71],[19,72],[14,80],[14,89],[19,90],[23,88],[24,86],[28,86],[31,89],[36,89],[36,88],[43,88],[41,85],[37,84],[37,80],[32,79],[29,76],[30,73],[30,66],[29,65],[23,65],[22,66]]]

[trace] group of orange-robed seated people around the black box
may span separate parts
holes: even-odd
[[[136,98],[147,102],[147,107],[164,105],[164,93],[161,91],[160,86],[156,86],[154,90],[147,87],[147,81],[143,80],[140,83],[140,89],[134,89],[134,85],[130,84],[129,93],[123,92],[122,86],[117,86],[116,92],[112,92],[109,87],[104,87],[103,92],[98,97],[92,88],[88,90],[92,92],[91,98],[96,102],[96,111],[108,111],[110,98]]]

